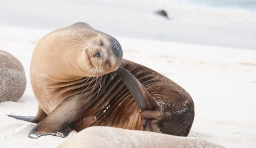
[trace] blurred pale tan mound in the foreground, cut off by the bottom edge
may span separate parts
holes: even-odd
[[[113,127],[89,127],[60,144],[58,148],[222,148],[222,146],[194,137],[179,137],[156,132],[126,130]]]

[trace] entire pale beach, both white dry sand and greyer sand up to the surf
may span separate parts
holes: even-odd
[[[16,0],[1,2],[0,49],[21,61],[27,88],[17,102],[0,103],[0,147],[56,147],[76,134],[30,139],[28,133],[35,124],[5,115],[36,115],[38,104],[29,80],[33,49],[49,31],[77,21],[115,36],[123,47],[124,58],[162,73],[191,94],[196,115],[190,137],[226,147],[256,146],[256,50],[251,50],[256,49],[256,19],[251,13],[221,9],[219,13],[172,5],[169,12],[173,21],[167,21],[151,15],[150,9],[156,7],[149,4],[141,10],[139,6],[143,3],[131,9],[107,0],[96,4],[88,1],[86,5],[68,2],[58,5],[59,2],[46,0],[37,4],[31,0],[29,5]],[[167,7],[159,4],[157,8],[160,6]],[[92,10],[95,13],[87,15]],[[120,13],[114,13],[116,10]],[[70,15],[66,16],[65,11]],[[169,41],[151,40],[157,38]]]

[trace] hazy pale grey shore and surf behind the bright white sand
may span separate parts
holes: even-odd
[[[0,1],[0,26],[52,31],[79,21],[112,36],[256,49],[256,0]]]

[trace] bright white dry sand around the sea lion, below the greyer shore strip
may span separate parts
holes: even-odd
[[[56,147],[67,138],[28,138],[33,123],[5,114],[34,116],[37,111],[29,81],[33,48],[45,30],[0,26],[1,49],[16,56],[27,74],[27,88],[17,102],[0,103],[1,147]],[[13,32],[15,36],[13,36]],[[23,35],[26,35],[24,38]],[[117,37],[124,58],[164,74],[192,96],[196,116],[189,136],[226,147],[256,144],[256,51]]]

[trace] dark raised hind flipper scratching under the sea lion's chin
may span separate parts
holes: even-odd
[[[121,76],[140,109],[156,109],[156,101],[128,70],[119,67],[115,72]]]

